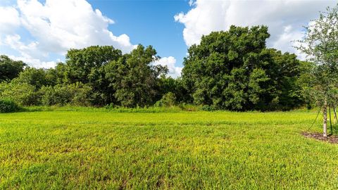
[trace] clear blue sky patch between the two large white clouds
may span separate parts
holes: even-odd
[[[174,15],[189,11],[186,0],[176,1],[89,1],[115,21],[109,29],[116,35],[127,34],[132,44],[152,45],[161,57],[173,56],[178,65],[187,52],[182,30]]]

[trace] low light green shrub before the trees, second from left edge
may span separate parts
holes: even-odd
[[[89,106],[90,94],[92,89],[82,83],[75,84],[57,84],[54,87],[42,87],[42,103],[45,106],[52,105],[72,105],[72,106]]]

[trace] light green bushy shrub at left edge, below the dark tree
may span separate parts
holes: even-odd
[[[40,94],[34,86],[20,82],[1,82],[0,99],[14,101],[20,106],[40,104]]]

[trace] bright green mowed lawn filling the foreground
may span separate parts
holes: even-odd
[[[315,116],[0,114],[0,189],[338,189],[338,145],[300,134]]]

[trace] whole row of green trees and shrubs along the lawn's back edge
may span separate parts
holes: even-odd
[[[123,54],[113,46],[70,49],[55,68],[30,68],[0,57],[0,99],[20,106],[204,106],[206,110],[290,110],[311,106],[313,63],[268,49],[268,27],[230,27],[202,37],[184,58],[182,77],[152,46]]]

